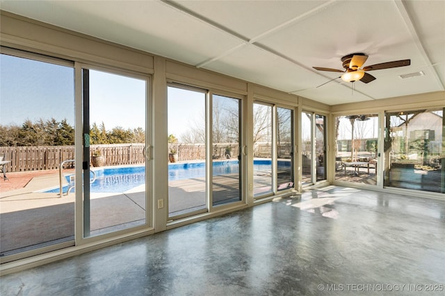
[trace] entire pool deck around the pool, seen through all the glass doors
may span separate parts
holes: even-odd
[[[67,172],[70,170],[64,171]],[[8,178],[0,180],[1,254],[74,238],[75,194],[60,197],[58,193],[38,192],[59,186],[58,170],[8,173]],[[270,175],[259,176],[259,181],[263,181],[262,178],[266,187],[270,186]],[[67,184],[66,180],[63,183]],[[168,185],[170,216],[206,209],[204,178],[175,180]],[[240,196],[238,174],[215,177],[212,188],[216,203],[237,200]],[[145,185],[123,193],[92,193],[91,232],[100,234],[110,231],[111,227],[115,230],[143,224],[145,208]]]

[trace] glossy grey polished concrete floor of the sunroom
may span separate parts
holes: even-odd
[[[1,295],[444,295],[445,201],[328,186],[0,281]]]

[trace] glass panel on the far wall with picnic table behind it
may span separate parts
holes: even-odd
[[[376,185],[378,114],[337,116],[335,179]]]

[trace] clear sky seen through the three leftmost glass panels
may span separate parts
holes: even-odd
[[[90,70],[90,124],[145,128],[145,92],[145,80]],[[168,134],[180,139],[204,109],[204,93],[168,87]],[[74,126],[74,69],[1,54],[0,124],[51,118]]]

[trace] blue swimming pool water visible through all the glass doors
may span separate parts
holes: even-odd
[[[278,166],[290,166],[290,162],[278,163]],[[270,171],[270,160],[254,160],[255,171]],[[112,193],[124,192],[145,183],[145,166],[133,166],[122,168],[99,168],[93,169],[96,180],[90,186],[90,192]],[[225,175],[238,173],[238,160],[213,162],[213,175]],[[205,176],[204,162],[189,162],[168,165],[168,180],[183,180]],[[70,176],[65,176],[69,182]],[[54,188],[44,192],[58,193],[60,189]],[[63,193],[66,193],[67,186],[64,186]],[[72,190],[74,191],[74,189]]]

